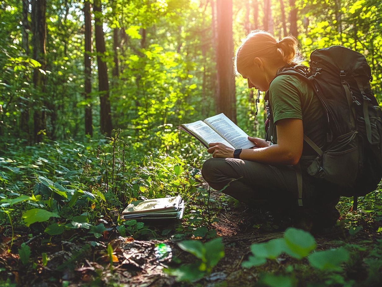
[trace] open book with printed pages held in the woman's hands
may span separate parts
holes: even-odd
[[[184,123],[178,128],[197,138],[206,148],[209,148],[209,143],[223,143],[234,149],[249,149],[255,146],[249,141],[248,135],[223,113],[209,117],[203,122],[198,120],[194,123]]]

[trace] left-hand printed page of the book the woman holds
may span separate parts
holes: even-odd
[[[223,143],[226,146],[233,148],[228,141],[223,139],[216,131],[201,120],[194,123],[184,123],[181,126],[191,131],[192,135],[199,139],[199,141],[201,141],[207,148],[209,143]]]

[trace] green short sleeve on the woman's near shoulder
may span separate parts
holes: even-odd
[[[303,119],[301,83],[296,76],[281,75],[269,87],[269,100],[274,123],[282,119]]]

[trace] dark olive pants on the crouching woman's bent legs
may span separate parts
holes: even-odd
[[[202,167],[204,180],[214,189],[251,206],[259,201],[274,207],[298,205],[296,172],[292,166],[272,166],[241,159],[211,158]],[[303,205],[333,208],[339,196],[335,187],[303,172]]]

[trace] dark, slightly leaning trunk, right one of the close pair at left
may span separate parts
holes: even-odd
[[[100,0],[94,0],[95,48],[97,49],[98,90],[100,92],[100,126],[101,133],[110,137],[112,134],[112,117],[109,100],[109,80],[105,57],[105,38],[102,28],[102,9]]]

